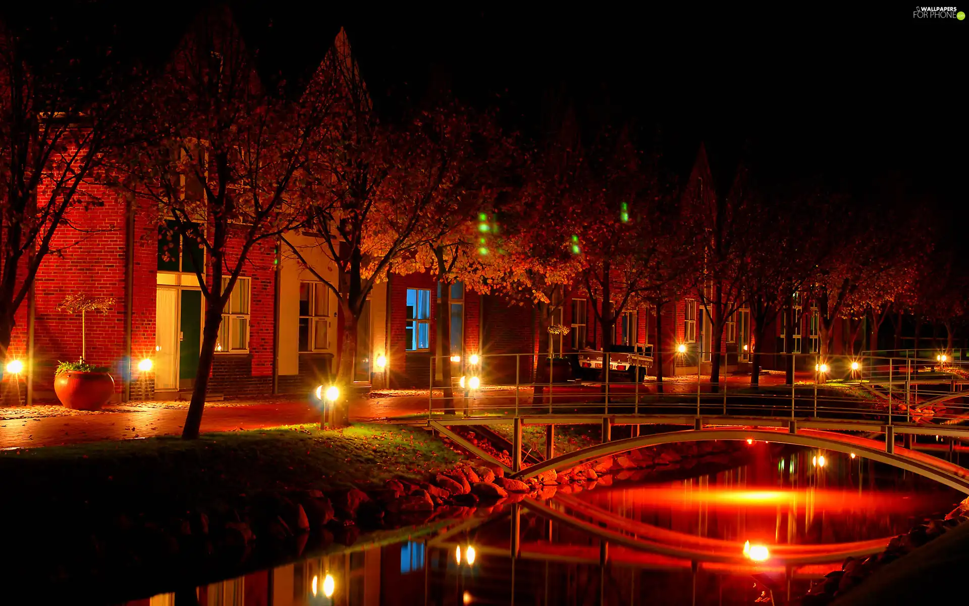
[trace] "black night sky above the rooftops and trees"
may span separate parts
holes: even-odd
[[[201,4],[179,0],[145,13],[132,3],[85,2],[60,14],[99,38],[110,31],[124,52],[164,61]],[[765,178],[820,176],[859,196],[891,182],[914,211],[946,208],[955,225],[969,216],[961,92],[969,20],[916,20],[901,8],[306,4],[231,3],[265,79],[298,87],[343,26],[389,116],[448,88],[541,140],[554,128],[551,116],[571,107],[586,129],[629,124],[642,141],[659,141],[679,175],[703,142],[721,187],[742,158]],[[8,9],[5,18],[49,15],[51,6],[26,16]]]

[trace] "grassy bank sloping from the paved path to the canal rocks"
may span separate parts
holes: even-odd
[[[0,453],[8,512],[146,515],[237,506],[260,492],[382,485],[423,479],[461,459],[431,433],[408,427],[315,426],[152,437]]]

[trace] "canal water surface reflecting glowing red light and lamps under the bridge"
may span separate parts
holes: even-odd
[[[880,551],[961,499],[860,458],[752,448],[763,450],[734,469],[480,510],[434,533],[129,605],[778,603],[844,553]]]

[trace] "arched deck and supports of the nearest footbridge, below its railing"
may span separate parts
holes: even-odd
[[[858,416],[862,416],[859,411]],[[636,448],[657,444],[691,442],[703,440],[745,440],[755,439],[767,442],[793,444],[809,448],[855,453],[857,456],[873,461],[885,462],[927,478],[931,478],[962,493],[969,494],[969,469],[941,459],[917,452],[910,448],[895,446],[895,434],[908,436],[933,435],[949,438],[969,438],[969,427],[958,425],[934,425],[925,423],[882,424],[869,419],[784,419],[775,416],[685,416],[675,414],[537,414],[516,416],[464,416],[452,419],[421,420],[416,423],[427,425],[435,431],[447,435],[475,455],[498,462],[484,450],[478,448],[459,433],[453,431],[457,426],[494,426],[512,425],[514,446],[512,458],[514,477],[527,479],[537,476],[548,469],[561,469],[598,457],[614,455]],[[525,425],[539,425],[547,428],[547,445],[553,443],[555,425],[602,424],[605,441],[581,450],[552,456],[547,451],[546,461],[521,467],[521,428]],[[610,440],[613,426],[687,426],[692,431],[669,431],[651,435],[638,435],[630,438]],[[884,433],[885,441],[867,439],[854,435],[854,432]],[[906,443],[908,443],[906,441]],[[499,464],[502,464],[498,462]],[[502,464],[504,466],[504,464]]]

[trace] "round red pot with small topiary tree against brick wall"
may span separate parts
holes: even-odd
[[[114,395],[114,379],[107,367],[96,367],[85,360],[87,353],[86,316],[88,311],[104,313],[114,304],[109,297],[89,297],[82,293],[69,295],[57,307],[80,313],[80,358],[77,362],[60,362],[54,371],[54,393],[68,408],[98,410]]]

